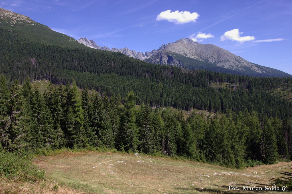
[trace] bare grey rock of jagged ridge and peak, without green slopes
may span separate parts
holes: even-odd
[[[88,40],[87,38],[80,38],[79,43],[82,43],[88,47],[107,50],[113,52],[121,52],[129,57],[134,57],[136,59],[144,60],[149,63],[154,64],[165,64],[171,66],[183,67],[183,61],[176,59],[176,55],[171,55],[170,53],[177,53],[185,57],[192,59],[197,59],[199,61],[204,61],[208,64],[213,64],[214,66],[220,66],[222,68],[235,70],[237,72],[245,73],[260,73],[260,74],[270,74],[272,75],[271,68],[260,66],[258,64],[253,64],[245,59],[232,54],[231,52],[220,48],[212,44],[201,44],[194,42],[189,38],[182,38],[173,43],[167,43],[161,45],[158,50],[152,50],[151,52],[136,52],[128,48],[117,49],[108,47],[100,47],[93,40]],[[181,59],[183,60],[183,59]],[[284,72],[283,72],[284,73]]]

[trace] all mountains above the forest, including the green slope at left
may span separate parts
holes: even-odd
[[[1,29],[17,35],[19,38],[48,45],[79,48],[84,50],[104,50],[120,52],[129,57],[153,64],[166,64],[188,69],[206,69],[221,73],[250,75],[259,77],[291,77],[283,71],[260,66],[246,61],[211,44],[201,44],[188,38],[182,38],[173,43],[161,45],[150,52],[136,52],[128,48],[117,49],[100,47],[93,40],[80,38],[78,41],[51,28],[33,21],[25,15],[0,8]]]

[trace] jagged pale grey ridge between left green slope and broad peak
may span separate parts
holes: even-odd
[[[126,55],[128,55],[129,57],[134,57],[136,59],[140,59],[140,60],[144,60],[144,59],[148,59],[149,57],[151,57],[151,54],[155,51],[151,51],[151,52],[136,52],[134,50],[130,50],[128,48],[122,48],[122,49],[117,49],[117,48],[112,48],[110,49],[109,47],[100,47],[98,46],[93,40],[88,40],[86,37],[85,38],[80,38],[78,40],[79,43],[84,44],[85,46],[91,47],[91,48],[95,48],[95,49],[99,49],[99,50],[106,50],[106,51],[112,51],[112,52],[121,52],[124,53]]]

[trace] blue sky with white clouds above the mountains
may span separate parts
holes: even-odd
[[[180,38],[292,74],[292,1],[0,0],[75,39],[145,52]]]

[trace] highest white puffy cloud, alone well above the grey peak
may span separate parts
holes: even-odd
[[[185,24],[188,22],[196,22],[196,20],[199,18],[199,14],[194,12],[190,13],[189,11],[173,11],[166,10],[161,12],[159,15],[157,15],[156,20],[167,20],[168,22],[174,22],[175,24]]]

